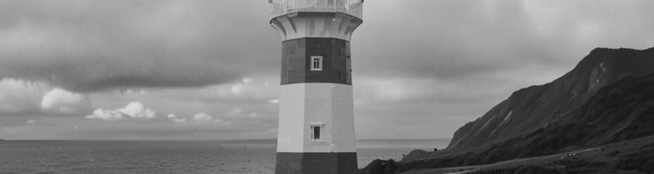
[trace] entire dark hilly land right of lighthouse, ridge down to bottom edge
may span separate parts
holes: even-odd
[[[653,173],[654,48],[593,49],[554,81],[514,92],[445,150],[361,173]]]

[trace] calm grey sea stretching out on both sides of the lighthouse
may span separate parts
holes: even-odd
[[[449,140],[362,140],[359,166]],[[0,173],[273,173],[275,141],[1,141]]]

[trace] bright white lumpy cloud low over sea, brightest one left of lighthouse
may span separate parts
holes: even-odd
[[[100,120],[152,119],[156,117],[156,114],[156,111],[146,109],[141,102],[130,102],[121,109],[96,109],[92,115],[85,118]]]

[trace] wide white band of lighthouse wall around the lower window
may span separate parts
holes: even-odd
[[[356,152],[352,86],[312,83],[281,86],[277,152]],[[322,123],[322,140],[311,124]]]

